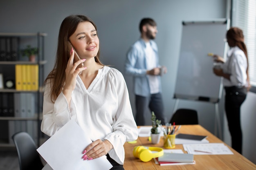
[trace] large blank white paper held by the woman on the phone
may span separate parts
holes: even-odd
[[[106,156],[84,161],[82,152],[92,141],[86,131],[70,120],[37,151],[53,170],[109,170],[111,163]]]

